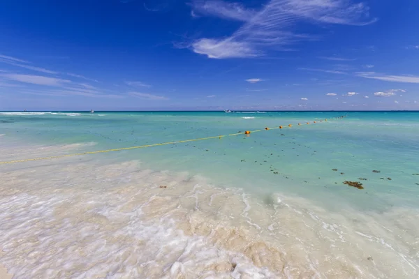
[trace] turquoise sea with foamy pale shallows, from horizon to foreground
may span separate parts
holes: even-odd
[[[16,278],[419,276],[419,112],[0,112],[0,161],[233,133],[1,164],[0,263]]]

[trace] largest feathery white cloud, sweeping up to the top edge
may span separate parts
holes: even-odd
[[[201,38],[190,45],[193,52],[214,59],[263,56],[267,48],[280,49],[313,38],[293,31],[301,21],[346,25],[366,25],[376,21],[366,20],[368,6],[351,0],[270,0],[259,10],[220,0],[193,1],[191,6],[194,15],[244,22],[227,38]]]

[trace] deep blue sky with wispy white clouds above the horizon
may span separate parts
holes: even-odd
[[[419,110],[418,0],[1,1],[0,110]]]

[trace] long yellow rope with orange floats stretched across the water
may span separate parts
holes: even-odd
[[[307,122],[307,124],[308,124],[308,122]],[[281,129],[284,129],[284,128],[290,128],[290,127],[283,126]],[[279,127],[268,128],[267,130],[274,130],[274,129],[279,129]],[[253,131],[250,131],[250,133],[258,133],[258,132],[262,132],[262,131],[265,131],[265,129],[253,130]],[[198,140],[211,140],[211,139],[216,139],[217,137],[218,138],[221,138],[221,137],[232,137],[232,136],[235,136],[235,135],[244,135],[244,133],[235,133],[235,134],[230,134],[230,135],[217,135],[217,136],[214,136],[214,137],[200,137],[198,139],[192,139],[192,140],[179,140],[177,142],[163,142],[161,144],[146,144],[146,145],[140,145],[140,146],[122,147],[122,148],[119,148],[119,149],[108,149],[108,150],[99,150],[99,151],[89,151],[89,152],[83,152],[83,153],[73,153],[73,154],[66,154],[66,155],[57,155],[57,156],[49,156],[49,157],[31,158],[31,159],[23,159],[23,160],[11,160],[11,161],[0,162],[0,165],[3,165],[3,164],[13,164],[13,163],[22,163],[22,162],[29,162],[29,161],[38,161],[38,160],[49,160],[49,159],[55,159],[55,158],[81,156],[81,155],[88,155],[88,154],[106,153],[106,152],[112,152],[112,151],[122,151],[122,150],[130,150],[130,149],[142,149],[142,148],[152,147],[152,146],[161,146],[161,145],[168,145],[168,144],[179,144],[179,143],[183,143],[183,142],[196,142]]]

